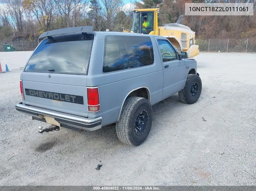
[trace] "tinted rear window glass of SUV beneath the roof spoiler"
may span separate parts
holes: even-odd
[[[87,74],[93,35],[45,39],[29,59],[25,72]]]

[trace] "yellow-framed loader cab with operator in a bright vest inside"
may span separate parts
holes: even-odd
[[[159,9],[135,9],[131,33],[158,35],[157,15]]]

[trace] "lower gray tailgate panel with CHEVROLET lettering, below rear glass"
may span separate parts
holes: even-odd
[[[88,117],[86,77],[24,72],[22,84],[25,104]],[[66,84],[64,81],[67,81]]]

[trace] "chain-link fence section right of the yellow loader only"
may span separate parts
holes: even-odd
[[[256,52],[256,38],[196,39],[202,52]]]

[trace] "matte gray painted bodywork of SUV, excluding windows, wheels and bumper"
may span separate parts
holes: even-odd
[[[106,35],[142,36],[145,34],[121,33],[121,32],[93,32],[94,40],[91,50],[91,58],[88,65],[87,75],[55,74],[39,72],[23,72],[23,91],[25,88],[40,89],[63,94],[80,95],[84,98],[84,105],[53,101],[41,97],[29,97],[25,95],[23,104],[29,104],[58,112],[96,119],[102,117],[102,126],[115,123],[119,116],[122,105],[128,94],[145,87],[150,92],[152,105],[184,88],[188,72],[197,63],[195,60],[182,59],[170,62],[162,62],[156,39],[165,37],[146,35],[151,38],[154,51],[154,64],[139,68],[132,68],[117,72],[103,73],[104,37]],[[170,42],[168,40],[168,42]],[[165,65],[169,68],[165,68]],[[189,66],[187,69],[186,66]],[[48,78],[51,75],[51,78]],[[39,88],[38,88],[39,86]],[[86,87],[99,88],[100,111],[88,112]]]

